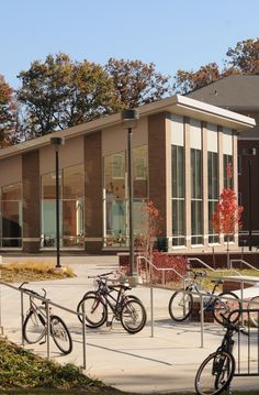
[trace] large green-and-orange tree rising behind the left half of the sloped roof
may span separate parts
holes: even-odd
[[[67,129],[122,108],[113,81],[98,64],[72,62],[66,54],[35,61],[18,76],[22,87],[27,136],[35,138]]]

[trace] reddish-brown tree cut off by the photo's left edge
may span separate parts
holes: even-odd
[[[16,106],[13,89],[0,75],[0,147],[13,143],[15,128]]]

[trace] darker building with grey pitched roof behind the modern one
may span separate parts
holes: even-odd
[[[238,193],[239,204],[244,206],[240,241],[249,243],[249,229],[252,231],[252,245],[259,245],[259,75],[233,75],[198,89],[188,97],[251,117],[256,125],[249,132],[238,133]],[[256,149],[256,150],[255,150]],[[255,153],[256,155],[251,155]],[[250,173],[250,180],[249,180]],[[250,216],[249,216],[250,201]]]

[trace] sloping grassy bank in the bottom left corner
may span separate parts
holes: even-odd
[[[99,380],[86,376],[74,364],[60,365],[42,359],[7,340],[0,340],[0,392],[7,389],[80,389],[95,394],[103,389]],[[103,391],[102,391],[103,392]]]

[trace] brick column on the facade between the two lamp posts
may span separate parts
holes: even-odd
[[[103,223],[101,131],[85,136],[85,197],[86,251],[100,253]]]

